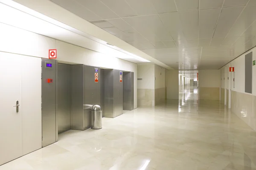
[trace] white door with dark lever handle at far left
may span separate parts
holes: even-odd
[[[0,53],[0,165],[22,156],[19,55]]]

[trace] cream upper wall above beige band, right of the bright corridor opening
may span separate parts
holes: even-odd
[[[221,70],[199,70],[199,87],[221,87]]]

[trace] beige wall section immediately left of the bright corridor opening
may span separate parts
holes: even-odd
[[[179,99],[179,71],[166,69],[167,99]]]

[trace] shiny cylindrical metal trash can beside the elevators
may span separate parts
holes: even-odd
[[[101,129],[102,128],[102,109],[99,105],[93,105],[91,109],[91,128]]]

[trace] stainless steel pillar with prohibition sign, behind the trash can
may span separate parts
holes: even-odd
[[[90,107],[100,105],[100,69],[94,66],[71,66],[71,129],[90,128]]]

